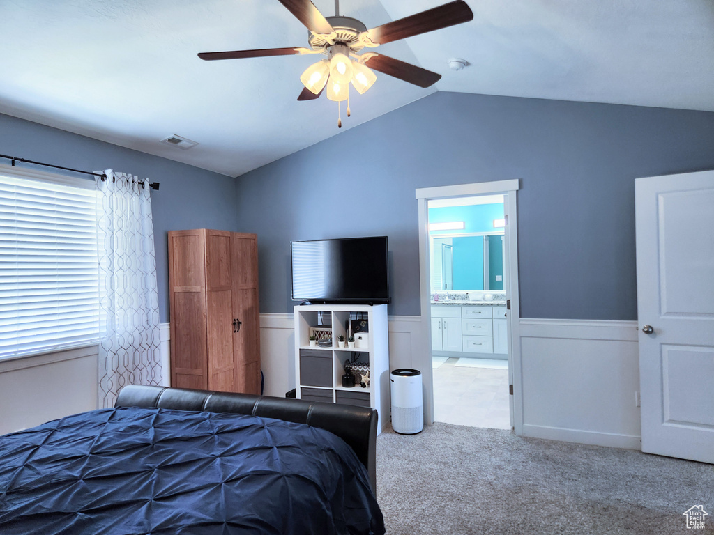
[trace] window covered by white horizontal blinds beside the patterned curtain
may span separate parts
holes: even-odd
[[[0,359],[96,343],[96,188],[0,165]]]

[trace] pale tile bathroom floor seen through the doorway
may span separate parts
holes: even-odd
[[[511,429],[508,370],[455,366],[450,358],[433,369],[434,419],[470,427]]]

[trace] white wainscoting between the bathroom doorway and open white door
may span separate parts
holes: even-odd
[[[519,322],[523,435],[640,449],[637,323]]]

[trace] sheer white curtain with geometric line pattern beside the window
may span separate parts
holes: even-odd
[[[160,384],[159,295],[148,180],[104,172],[96,178],[99,239],[98,407],[126,384]]]

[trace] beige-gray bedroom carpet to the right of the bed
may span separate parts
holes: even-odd
[[[377,439],[388,535],[714,534],[714,467],[436,423]],[[704,506],[705,529],[683,513]]]

